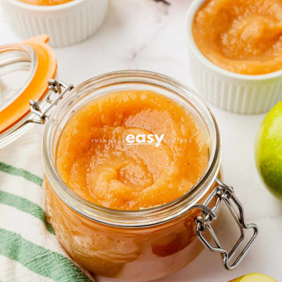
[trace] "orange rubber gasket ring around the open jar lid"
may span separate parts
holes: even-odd
[[[40,100],[47,93],[48,80],[54,78],[57,71],[55,53],[46,44],[48,40],[48,35],[39,35],[22,42],[32,47],[37,55],[38,66],[31,83],[23,93],[0,111],[0,134],[30,113],[29,100]]]

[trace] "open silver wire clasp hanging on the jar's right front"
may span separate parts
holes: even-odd
[[[218,177],[216,178],[216,182],[219,184],[219,186],[214,188],[211,195],[206,199],[204,204],[203,205],[197,204],[194,206],[194,208],[202,210],[202,216],[195,217],[195,222],[197,226],[196,231],[197,231],[198,238],[204,244],[204,246],[207,247],[211,251],[219,252],[222,256],[222,262],[223,262],[224,267],[227,270],[233,270],[238,266],[238,264],[242,261],[244,256],[247,254],[247,251],[249,250],[251,244],[253,243],[254,239],[256,238],[258,234],[258,227],[253,223],[251,224],[246,223],[244,209],[241,203],[235,197],[233,187],[227,186]],[[212,202],[214,198],[216,198],[216,202],[213,208],[211,209],[208,207],[208,205]],[[239,240],[237,241],[237,243],[235,244],[235,246],[232,248],[230,252],[228,252],[226,249],[221,247],[215,235],[215,232],[213,231],[211,227],[211,222],[216,220],[216,212],[220,206],[221,201],[225,202],[226,206],[228,207],[229,211],[232,213],[241,231],[241,236]],[[237,207],[239,213],[236,212],[234,204]],[[232,264],[230,264],[232,257],[234,256],[236,251],[239,249],[239,247],[243,243],[243,240],[245,237],[244,229],[250,229],[250,228],[253,229],[253,235],[251,239],[248,241],[244,249],[239,253],[235,261]],[[203,233],[206,231],[210,233],[212,240],[215,243],[216,247],[213,247],[204,238]]]

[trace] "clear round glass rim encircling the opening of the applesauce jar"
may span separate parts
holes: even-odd
[[[143,83],[146,85],[156,86],[168,89],[175,95],[180,96],[192,106],[196,107],[199,116],[206,122],[209,122],[212,130],[212,153],[208,167],[197,181],[186,193],[176,198],[172,202],[134,211],[123,211],[105,208],[93,204],[72,191],[59,176],[55,166],[55,150],[57,143],[55,141],[56,130],[60,122],[58,119],[65,114],[66,108],[69,107],[83,93],[88,95],[90,89],[98,90],[112,85],[121,85],[126,83]],[[87,92],[88,91],[88,92]],[[109,91],[110,92],[110,91]],[[84,97],[84,96],[83,96]],[[216,120],[211,109],[205,101],[193,90],[184,86],[172,77],[144,70],[120,70],[108,72],[93,77],[80,85],[76,86],[67,98],[63,98],[48,119],[44,137],[43,137],[43,162],[45,176],[47,177],[52,189],[60,199],[71,209],[81,215],[90,218],[102,224],[118,227],[147,227],[170,221],[183,213],[197,203],[210,189],[218,172],[221,161],[221,141]]]

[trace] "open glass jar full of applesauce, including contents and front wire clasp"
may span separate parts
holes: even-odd
[[[64,87],[70,89],[68,85]],[[146,111],[148,107],[154,110]],[[144,114],[149,112],[158,112],[151,116],[154,122]],[[158,120],[159,114],[165,114],[166,118],[160,116]],[[128,129],[130,134],[122,142],[120,130]],[[132,129],[137,132],[133,134]],[[144,130],[153,137],[137,138]],[[116,132],[118,136],[113,136]],[[168,137],[160,141],[163,134],[173,134],[175,139],[189,134],[191,142],[177,144]],[[103,144],[104,139],[114,137],[116,142]],[[150,142],[154,144],[149,145]],[[194,169],[186,163],[188,148],[194,152],[190,156]],[[112,156],[113,153],[116,155]],[[191,161],[194,157],[197,161]],[[65,250],[90,272],[121,281],[148,281],[167,276],[195,259],[203,246],[211,249],[203,237],[206,231],[218,242],[212,228],[221,201],[231,210],[234,207],[230,201],[234,201],[240,214],[244,212],[233,189],[217,177],[220,158],[219,132],[210,109],[179,82],[141,70],[92,78],[64,96],[46,125],[43,186],[48,220]],[[170,161],[176,164],[175,168]],[[158,168],[161,172],[156,173]],[[201,170],[199,179],[191,176],[194,172],[200,174]],[[176,174],[178,178],[174,178]],[[193,184],[191,179],[196,182]],[[166,181],[167,186],[162,185]],[[169,183],[174,181],[176,185]],[[112,182],[116,185],[111,186]],[[185,189],[181,183],[185,183]],[[99,185],[106,195],[96,194]],[[151,199],[142,194],[147,188]],[[132,195],[127,196],[128,191]],[[159,197],[154,197],[154,193]],[[215,248],[229,270],[240,263],[257,234],[254,224],[247,225],[244,217],[237,218],[236,213],[233,216],[242,228],[240,242],[244,239],[244,228],[254,229],[254,234],[233,263],[223,247]],[[237,248],[238,244],[232,252]]]

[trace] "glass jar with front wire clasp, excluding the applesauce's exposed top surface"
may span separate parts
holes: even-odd
[[[219,252],[226,269],[234,269],[257,235],[257,227],[245,222],[244,211],[233,188],[217,177],[221,143],[216,121],[209,107],[193,91],[158,73],[126,70],[94,77],[70,90],[65,87],[47,120],[43,139],[44,191],[48,218],[58,240],[81,266],[98,275],[123,281],[148,281],[176,272],[203,249]],[[70,116],[90,100],[112,91],[153,90],[180,103],[201,121],[210,137],[210,160],[204,175],[184,195],[173,202],[138,211],[118,211],[92,204],[75,194],[58,175],[55,161],[60,135]],[[68,93],[68,94],[66,94]],[[35,111],[36,103],[32,103]],[[241,237],[227,252],[220,246],[212,226],[224,202],[234,216]],[[242,247],[244,230],[253,235]],[[206,239],[210,234],[214,244]],[[235,255],[234,262],[230,259]]]

